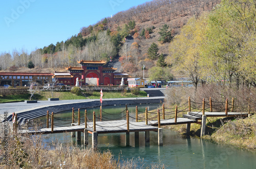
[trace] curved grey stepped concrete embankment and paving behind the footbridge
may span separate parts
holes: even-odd
[[[120,99],[104,99],[102,106],[111,105],[138,105],[138,104],[153,104],[163,103],[164,97],[152,97],[152,98],[120,98]],[[13,106],[13,108],[12,108]],[[8,112],[8,120],[11,120],[12,112],[15,112],[18,116],[19,123],[25,122],[27,119],[37,118],[47,114],[47,111],[58,113],[61,111],[74,109],[84,109],[99,107],[100,101],[97,100],[62,100],[62,101],[39,101],[35,104],[25,104],[24,102],[1,104],[1,116],[4,112]],[[3,118],[1,119],[4,120]]]

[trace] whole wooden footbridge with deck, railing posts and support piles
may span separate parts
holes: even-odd
[[[225,112],[223,111],[212,111],[214,108],[212,106],[212,101],[210,99],[209,104],[205,103],[203,100],[203,103],[195,103],[199,104],[197,107],[191,106],[190,98],[188,99],[188,107],[184,108],[185,105],[182,105],[180,107],[176,108],[166,108],[163,107],[161,110],[158,109],[156,112],[148,112],[147,108],[145,109],[145,112],[138,111],[138,108],[136,106],[136,112],[135,117],[130,116],[130,113],[128,111],[127,105],[124,111],[121,113],[125,113],[121,118],[126,118],[126,120],[118,118],[118,119],[112,119],[106,118],[102,116],[102,112],[105,114],[110,114],[107,112],[102,111],[102,108],[100,107],[99,111],[99,117],[96,117],[97,112],[93,112],[93,119],[88,119],[88,113],[87,110],[85,110],[84,115],[80,116],[80,110],[78,109],[77,113],[75,113],[75,110],[73,108],[72,110],[72,122],[66,123],[62,125],[71,125],[71,126],[59,126],[60,124],[54,123],[54,119],[60,119],[55,118],[54,113],[52,112],[51,116],[49,116],[49,112],[47,112],[47,119],[46,119],[46,127],[43,127],[41,124],[40,129],[29,129],[29,122],[25,125],[20,125],[20,127],[27,127],[27,130],[19,130],[20,133],[28,133],[28,134],[53,134],[53,133],[65,133],[65,132],[72,132],[72,136],[75,137],[77,135],[77,140],[81,139],[81,132],[84,134],[84,144],[88,144],[88,133],[92,134],[92,146],[94,148],[97,147],[97,137],[98,134],[105,134],[105,133],[126,133],[126,143],[129,144],[130,139],[130,133],[135,132],[135,142],[138,142],[139,138],[139,132],[145,133],[145,144],[149,145],[150,141],[150,131],[158,132],[158,144],[163,144],[163,134],[162,134],[162,128],[161,126],[168,126],[168,125],[180,125],[180,124],[186,124],[187,133],[190,132],[190,124],[191,123],[197,123],[201,125],[201,136],[205,134],[205,127],[206,127],[206,117],[229,117],[229,116],[242,116],[246,117],[248,116],[247,112],[233,112],[234,110],[234,104],[232,101],[231,104],[231,112],[229,112],[228,109],[228,101],[226,100],[226,106],[225,106]],[[208,105],[208,108],[205,108],[205,105]],[[202,106],[202,109],[199,109],[199,107]],[[183,110],[178,111],[178,108],[183,108]],[[198,110],[196,112],[191,111]],[[205,110],[209,109],[209,112],[205,112]],[[215,110],[217,110],[216,108]],[[166,110],[169,110],[169,112],[166,112]],[[161,111],[161,113],[160,113]],[[140,113],[138,115],[138,113]],[[186,114],[185,114],[186,113]],[[178,114],[180,117],[178,117]],[[144,117],[142,117],[142,115]],[[155,115],[153,117],[150,117],[150,115]],[[182,116],[181,116],[182,115]],[[50,118],[51,117],[51,118]],[[166,118],[168,117],[168,118]],[[15,115],[14,118],[14,128],[17,129],[17,115]],[[84,123],[80,123],[81,120],[84,119]],[[108,120],[104,120],[108,119]],[[141,122],[138,122],[140,120]],[[51,123],[49,124],[49,122]],[[68,121],[68,120],[65,120]],[[144,122],[143,122],[144,121]],[[51,128],[49,128],[49,126]],[[54,127],[55,126],[55,127]],[[57,126],[57,127],[56,127]],[[77,132],[77,134],[75,134]]]

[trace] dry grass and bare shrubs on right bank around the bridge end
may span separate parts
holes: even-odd
[[[240,88],[239,90],[227,86],[206,85],[199,87],[196,95],[194,88],[180,87],[168,88],[166,90],[166,106],[182,105],[188,101],[202,103],[205,98],[206,103],[211,97],[214,111],[225,109],[226,98],[229,101],[229,111],[231,109],[231,100],[234,98],[234,111],[248,112],[250,101],[250,112],[256,112],[256,90],[255,88]],[[208,105],[206,105],[207,107]],[[184,107],[185,108],[185,107]],[[198,109],[202,109],[200,106]],[[196,110],[193,110],[196,111]],[[181,115],[181,114],[180,114]],[[179,115],[179,116],[180,116]],[[191,124],[190,135],[200,136],[200,125]],[[167,128],[185,134],[186,125],[173,125]],[[256,150],[256,115],[248,118],[234,117],[207,117],[205,139],[214,140],[226,144],[235,145],[238,148]]]

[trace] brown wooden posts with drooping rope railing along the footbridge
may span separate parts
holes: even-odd
[[[191,103],[193,106],[191,106]],[[188,107],[184,107],[185,105],[188,104]],[[223,105],[225,105],[225,108],[223,108]],[[71,124],[71,123],[78,123],[78,125],[80,125],[80,121],[84,122],[84,124],[86,125],[86,128],[88,127],[88,124],[87,122],[93,122],[94,125],[93,125],[93,128],[94,128],[94,131],[96,130],[96,119],[102,121],[102,120],[109,120],[109,121],[114,121],[114,120],[120,120],[120,119],[124,119],[126,117],[127,119],[127,130],[129,130],[129,124],[131,124],[129,122],[129,118],[132,118],[132,119],[135,119],[136,122],[138,122],[138,120],[145,120],[145,126],[148,125],[148,123],[150,124],[157,124],[157,123],[160,123],[160,117],[162,117],[161,120],[168,120],[168,119],[175,119],[175,123],[177,123],[177,117],[180,117],[183,115],[184,112],[187,112],[187,111],[191,111],[192,110],[196,110],[197,113],[195,113],[194,115],[190,115],[190,116],[195,116],[199,113],[202,112],[202,114],[204,115],[204,112],[205,111],[208,111],[208,112],[212,112],[213,109],[214,111],[225,111],[226,115],[228,115],[228,111],[234,111],[234,109],[239,109],[239,108],[242,108],[242,106],[237,106],[237,105],[234,105],[234,99],[232,99],[232,102],[228,102],[228,100],[226,99],[226,103],[223,103],[223,102],[217,102],[217,101],[212,101],[211,98],[209,101],[205,101],[203,99],[203,103],[197,103],[197,102],[194,102],[194,101],[190,101],[190,98],[189,98],[189,101],[180,105],[179,107],[176,106],[175,108],[173,107],[164,107],[164,104],[162,105],[162,108],[161,109],[158,109],[158,111],[147,111],[147,108],[145,108],[145,111],[139,111],[137,106],[136,106],[136,112],[135,112],[135,117],[133,116],[130,116],[129,115],[129,111],[127,110],[127,105],[125,105],[125,110],[119,112],[119,113],[109,113],[109,112],[105,112],[102,110],[102,108],[100,107],[100,111],[97,111],[97,112],[93,112],[93,113],[87,113],[85,112],[83,115],[80,114],[80,109],[78,109],[77,112],[74,111],[74,108],[72,108],[72,116],[66,116],[66,117],[54,117],[53,115],[53,112],[52,112],[52,115],[51,117],[49,116],[49,111],[47,112],[47,119],[40,119],[40,120],[27,120],[27,123],[26,124],[17,124],[14,123],[14,128],[16,129],[17,127],[19,128],[22,128],[22,129],[25,129],[25,128],[37,128],[37,129],[41,129],[43,127],[51,127],[52,128],[52,132],[53,132],[53,126],[60,126],[61,125],[68,125],[68,124]],[[221,108],[222,107],[222,108]],[[182,108],[182,110],[178,110],[178,108]],[[167,111],[165,112],[165,110],[173,110],[173,111]],[[249,108],[250,110],[250,108]],[[126,111],[126,114],[123,115],[122,117],[118,117],[118,118],[111,118],[111,117],[106,117],[106,116],[102,116],[102,112],[105,113],[105,114],[109,114],[109,115],[117,115],[117,114],[121,114],[121,113],[124,113]],[[160,113],[161,111],[161,113]],[[100,113],[99,117],[96,117],[95,116],[95,113]],[[138,116],[138,113],[145,113],[145,117],[140,117]],[[93,114],[93,119],[88,119],[88,115],[89,114]],[[132,112],[132,114],[134,114],[134,112]],[[156,114],[156,115],[155,115]],[[165,119],[165,115],[168,115],[168,119]],[[171,116],[171,115],[174,115]],[[17,116],[17,114],[14,114],[13,115],[15,118]],[[13,118],[14,118],[13,117]],[[72,119],[68,119],[72,117]],[[172,118],[170,118],[172,117]],[[55,120],[58,120],[60,122],[67,122],[67,123],[54,123],[54,119]],[[156,120],[158,119],[158,122],[155,122],[155,123],[152,123],[153,120]],[[123,126],[125,124],[122,124],[122,125],[118,125],[118,126],[111,126],[110,128],[113,128],[113,127],[119,127],[119,126]],[[131,125],[134,125],[134,124],[131,124]],[[101,125],[98,125],[97,126],[100,126],[100,127],[105,127],[105,128],[108,128],[109,126],[101,126]],[[139,125],[141,126],[141,125]],[[160,124],[159,124],[160,126]]]

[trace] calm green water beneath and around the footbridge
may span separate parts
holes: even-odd
[[[128,105],[132,116],[136,105]],[[139,111],[158,108],[159,104],[138,105]],[[88,114],[98,112],[99,108],[87,109]],[[102,108],[103,116],[107,118],[119,118],[125,115],[125,106],[106,106]],[[81,110],[84,112],[84,110]],[[109,115],[107,113],[115,114]],[[122,113],[120,113],[122,112]],[[71,116],[71,111],[54,114],[55,117]],[[81,113],[82,114],[82,113]],[[96,116],[99,116],[97,113]],[[110,117],[111,116],[111,117]],[[92,115],[89,115],[89,119]],[[68,119],[68,118],[67,118]],[[134,120],[131,118],[131,120]],[[58,123],[65,123],[59,121]],[[57,122],[56,122],[57,123]],[[70,126],[68,124],[67,126]],[[73,142],[75,146],[80,144],[71,133],[59,133],[43,135],[44,142],[52,144],[55,140],[59,142]],[[83,142],[83,134],[81,134]],[[163,165],[165,168],[256,168],[256,153],[239,150],[224,144],[217,144],[200,138],[187,137],[169,129],[163,129],[163,146],[158,146],[157,132],[150,132],[150,146],[145,147],[144,132],[139,133],[139,147],[135,147],[134,133],[130,134],[130,145],[125,144],[125,133],[99,134],[98,148],[101,151],[110,150],[116,159],[143,159],[138,167],[146,168],[151,164]],[[89,134],[89,144],[92,142]],[[79,146],[79,145],[78,145]],[[90,145],[89,145],[90,146]],[[140,164],[138,162],[138,164]]]

